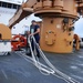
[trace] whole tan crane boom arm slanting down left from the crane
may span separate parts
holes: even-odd
[[[14,24],[20,22],[23,18],[33,13],[33,6],[37,3],[37,0],[28,0],[23,3],[19,10],[17,10],[15,14],[9,20],[9,28],[11,29]]]

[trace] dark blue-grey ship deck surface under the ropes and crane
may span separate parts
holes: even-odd
[[[83,83],[83,49],[71,54],[55,54],[44,52],[51,63],[63,73]],[[42,59],[40,58],[42,62]],[[44,62],[43,62],[44,63]],[[0,83],[66,83],[53,75],[43,75],[21,55],[0,56]]]

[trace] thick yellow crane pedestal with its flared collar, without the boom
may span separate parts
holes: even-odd
[[[43,7],[42,7],[43,6]],[[72,20],[77,17],[74,0],[44,0],[35,15],[42,17],[40,45],[43,51],[71,53],[73,50]],[[68,18],[69,22],[63,23]]]

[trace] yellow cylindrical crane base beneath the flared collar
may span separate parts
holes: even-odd
[[[63,31],[61,18],[44,18],[40,45],[43,51],[70,53],[73,49],[73,31]],[[51,23],[53,21],[53,23]],[[45,23],[46,22],[46,23]]]

